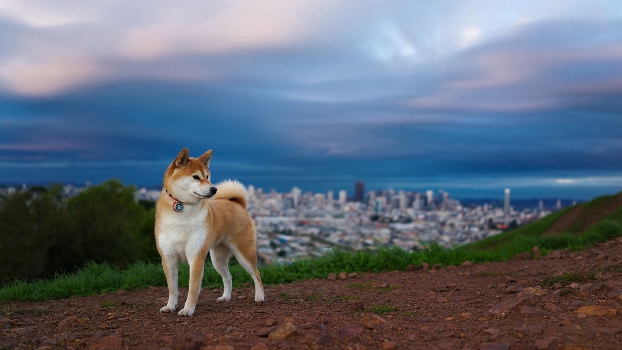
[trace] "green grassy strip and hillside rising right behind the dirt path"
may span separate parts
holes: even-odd
[[[285,265],[259,267],[266,285],[289,283],[310,278],[325,278],[330,272],[383,272],[407,270],[430,265],[460,265],[465,260],[488,262],[508,260],[516,253],[542,252],[589,247],[622,236],[622,192],[603,196],[580,206],[555,212],[516,230],[488,237],[473,244],[442,248],[435,244],[422,250],[406,252],[400,248],[376,250],[334,250],[321,258],[299,259]],[[203,286],[222,288],[220,275],[207,259]],[[251,279],[237,263],[230,266],[236,288],[248,286]],[[179,284],[188,284],[188,266],[180,267]],[[159,263],[133,263],[124,269],[91,263],[72,274],[56,275],[49,280],[14,281],[0,288],[0,302],[37,301],[73,295],[93,295],[118,289],[136,290],[164,286],[166,281]]]

